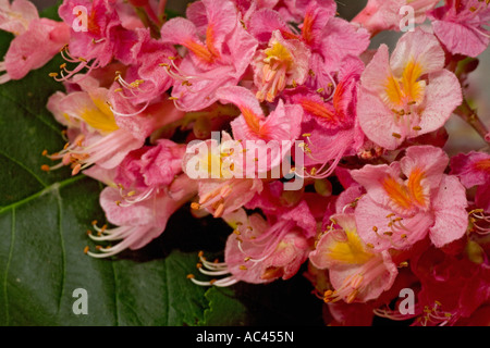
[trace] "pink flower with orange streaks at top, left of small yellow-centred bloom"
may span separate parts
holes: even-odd
[[[232,1],[203,0],[201,3],[191,7],[193,11],[199,10],[199,15],[191,16],[196,23],[177,17],[161,28],[162,42],[186,48],[179,66],[167,67],[175,79],[172,97],[186,111],[209,107],[217,101],[219,87],[237,85],[257,47],[238,22]]]

